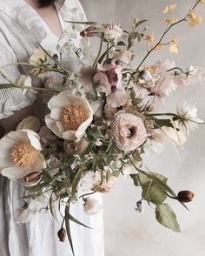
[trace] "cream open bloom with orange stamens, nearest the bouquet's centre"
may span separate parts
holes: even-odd
[[[62,91],[50,98],[50,114],[45,116],[46,125],[57,137],[74,140],[83,137],[93,119],[93,111],[86,98]]]

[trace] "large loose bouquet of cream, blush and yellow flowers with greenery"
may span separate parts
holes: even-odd
[[[155,205],[155,219],[162,226],[180,232],[175,212],[165,200],[175,199],[187,207],[184,203],[191,201],[194,193],[175,193],[165,176],[144,170],[142,158],[162,152],[166,138],[182,147],[189,132],[202,123],[195,106],[186,101],[178,104],[175,112],[156,110],[172,91],[202,81],[205,69],[190,66],[183,71],[169,59],[149,65],[144,62],[162,47],[177,53],[177,39],[168,43],[164,37],[177,24],[200,24],[202,18],[195,7],[201,3],[205,1],[197,0],[182,19],[173,16],[176,4],[167,6],[167,28],[156,43],[154,34],[147,33],[146,20],[135,19],[131,30],[116,24],[74,23],[87,25],[79,34],[83,42],[88,37],[100,38],[96,56],[90,48],[67,44],[63,35],[56,53],[39,45],[27,64],[30,73],[17,81],[0,71],[8,81],[1,88],[37,91],[46,106],[42,118],[23,119],[17,131],[0,140],[1,174],[21,179],[26,191],[19,221],[29,221],[42,209],[56,218],[58,209],[62,217],[59,239],[63,241],[67,233],[73,248],[69,222],[84,224],[70,214],[70,206],[81,200],[85,213],[96,214],[102,205],[92,195],[110,192],[121,175],[129,175],[142,189],[136,211],[143,212],[147,201]],[[142,41],[147,52],[133,68],[133,49]],[[43,87],[32,86],[31,77],[40,78]]]

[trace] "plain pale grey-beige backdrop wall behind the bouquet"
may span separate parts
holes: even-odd
[[[194,0],[82,0],[88,19],[98,22],[121,24],[129,28],[134,17],[148,19],[149,32],[159,37],[165,28],[162,10],[177,3],[175,17],[183,17]],[[167,49],[155,51],[146,64],[166,57],[175,58],[177,66],[187,68],[190,64],[205,67],[205,3],[196,9],[203,18],[202,24],[189,28],[180,24],[169,33],[179,39],[179,53],[170,54]],[[138,44],[136,59],[145,54],[145,44]],[[175,111],[175,104],[185,98],[195,103],[200,118],[205,120],[205,81],[177,90],[166,99],[165,109]],[[104,225],[106,256],[203,256],[205,255],[205,125],[193,131],[183,150],[175,151],[166,144],[160,155],[145,158],[145,165],[152,171],[169,177],[169,185],[175,192],[190,189],[195,200],[186,211],[175,201],[170,204],[177,214],[182,232],[175,233],[155,221],[155,211],[145,205],[145,214],[138,216],[134,210],[136,200],[141,198],[140,189],[131,180],[123,179],[113,192],[104,195]]]

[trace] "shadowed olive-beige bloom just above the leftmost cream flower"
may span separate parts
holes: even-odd
[[[38,118],[35,116],[30,116],[28,118],[24,118],[18,125],[17,131],[22,129],[29,129],[32,131],[39,131],[41,128],[41,123]]]

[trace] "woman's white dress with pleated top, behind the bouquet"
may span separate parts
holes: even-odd
[[[12,1],[10,6],[7,2],[0,0],[0,67],[27,62],[36,49],[36,42],[48,50],[56,48],[58,38],[30,5],[23,0]],[[73,36],[77,28],[63,20],[85,20],[81,4],[78,0],[68,0],[59,9],[56,2],[56,10],[62,29]],[[7,67],[4,72],[14,80],[26,69],[13,66]],[[0,83],[3,82],[0,78]],[[0,118],[10,117],[12,111],[32,104],[35,99],[36,95],[30,91],[22,95],[22,91],[17,89],[0,90]],[[22,185],[18,181],[10,182],[0,175],[0,256],[71,256],[68,239],[61,243],[56,235],[61,222],[53,219],[50,212],[40,212],[26,224],[16,222],[15,214],[21,205],[19,198],[22,193]],[[96,197],[101,199],[99,195]],[[103,256],[102,212],[93,217],[86,216],[79,202],[72,207],[72,215],[93,227],[90,230],[71,224],[76,256]]]

